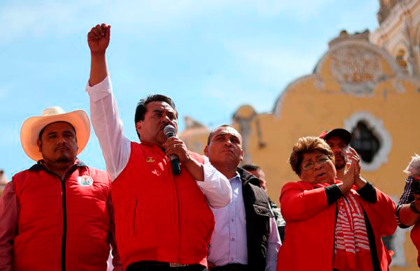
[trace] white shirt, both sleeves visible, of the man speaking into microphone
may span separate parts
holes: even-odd
[[[87,83],[86,91],[90,95],[90,119],[94,133],[104,154],[106,170],[113,181],[127,166],[131,141],[123,135],[123,122],[118,114],[109,75],[93,87]],[[211,166],[207,157],[204,156],[204,159],[204,181],[197,182],[197,185],[210,207],[224,207],[230,203],[232,196],[228,178]]]

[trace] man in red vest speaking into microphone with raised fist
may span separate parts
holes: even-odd
[[[94,132],[113,181],[116,240],[123,267],[206,270],[214,229],[209,206],[228,205],[232,189],[208,159],[188,151],[176,137],[178,112],[168,96],[141,99],[134,116],[140,143],[125,138],[106,68],[110,29],[98,24],[87,34],[91,52],[87,93]],[[167,138],[164,129],[169,125],[173,129]],[[178,158],[177,174],[169,156]]]

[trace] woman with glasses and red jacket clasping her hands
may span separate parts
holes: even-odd
[[[289,162],[300,181],[281,189],[286,233],[277,270],[388,270],[381,237],[396,228],[391,198],[369,182],[337,180],[334,154],[321,138],[299,138]]]

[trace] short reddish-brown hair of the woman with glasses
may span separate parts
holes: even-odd
[[[293,146],[292,153],[289,158],[290,166],[292,166],[293,171],[298,176],[302,173],[301,164],[303,155],[310,154],[312,152],[321,152],[321,154],[328,156],[328,159],[330,159],[332,163],[335,161],[334,154],[325,140],[314,136],[299,138]]]

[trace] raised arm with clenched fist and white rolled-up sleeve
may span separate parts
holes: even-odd
[[[123,122],[113,97],[111,79],[106,68],[106,48],[109,45],[111,26],[97,24],[87,34],[90,47],[90,79],[86,90],[90,96],[90,119],[102,154],[106,170],[115,180],[130,158],[130,140],[123,135]]]

